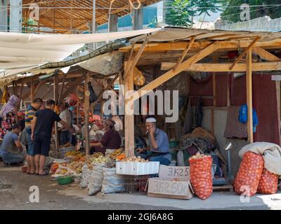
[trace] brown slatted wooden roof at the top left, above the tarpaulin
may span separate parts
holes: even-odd
[[[139,0],[143,6],[149,6],[159,0]],[[137,0],[133,0],[137,4]],[[38,25],[28,25],[30,15],[29,6],[37,3],[39,10]],[[93,21],[93,0],[81,1],[56,1],[56,0],[22,0],[22,27],[31,27],[32,32],[72,34],[90,31]],[[129,1],[115,0],[110,12],[110,1],[96,0],[96,24],[103,25],[108,20],[108,14],[119,17],[131,13]],[[48,29],[44,29],[44,27]]]

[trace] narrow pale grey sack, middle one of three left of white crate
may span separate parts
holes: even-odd
[[[93,167],[89,178],[88,190],[89,195],[95,195],[103,186],[103,167]]]

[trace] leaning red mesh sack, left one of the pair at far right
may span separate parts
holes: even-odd
[[[234,182],[235,192],[239,195],[245,193],[247,197],[256,194],[263,172],[263,157],[260,154],[247,152],[243,156],[242,163]]]

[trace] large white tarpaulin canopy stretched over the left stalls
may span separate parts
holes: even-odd
[[[85,43],[115,41],[154,31],[159,31],[159,29],[65,35],[0,32],[0,78],[27,72],[47,62],[60,62]],[[1,85],[2,83],[3,80],[1,80]]]

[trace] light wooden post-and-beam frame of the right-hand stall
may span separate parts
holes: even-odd
[[[133,116],[126,114],[126,109],[128,109],[126,104],[132,104],[134,100],[142,97],[146,93],[145,91],[155,90],[159,85],[177,76],[182,71],[210,72],[216,73],[216,76],[220,73],[227,74],[237,71],[246,73],[249,118],[247,122],[248,141],[249,143],[254,141],[253,117],[250,112],[252,109],[252,71],[281,70],[281,59],[276,56],[276,53],[281,52],[281,38],[277,36],[275,39],[266,39],[262,33],[261,36],[249,33],[241,36],[240,34],[210,34],[208,38],[204,37],[205,34],[198,36],[190,34],[185,39],[178,41],[133,43],[119,49],[120,52],[126,52],[124,67],[125,74],[128,73],[128,75],[124,79],[125,91],[132,90],[132,67],[134,66],[156,65],[166,71],[162,76],[155,78],[131,94],[125,101],[126,155],[133,155],[134,153],[131,147],[133,145],[134,120]],[[234,35],[235,38],[233,38]],[[239,54],[241,49],[242,53]],[[229,51],[238,52],[235,61],[218,63],[218,57],[226,57]],[[253,53],[259,56],[260,62],[252,62]],[[138,57],[133,58],[132,55],[138,55]],[[247,55],[246,62],[241,62],[244,55]],[[205,59],[208,59],[208,61],[211,59],[212,62],[204,62]],[[126,70],[126,68],[130,69]],[[216,86],[215,82],[213,83],[214,86]]]

